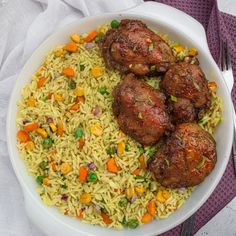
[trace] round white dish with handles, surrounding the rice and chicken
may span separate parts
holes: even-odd
[[[134,230],[124,229],[118,231],[81,223],[79,220],[62,215],[55,208],[43,205],[35,191],[35,181],[28,175],[22,159],[19,158],[19,152],[16,147],[16,103],[20,99],[21,88],[23,85],[29,83],[30,76],[37,70],[42,63],[44,56],[51,48],[66,43],[69,35],[74,32],[79,34],[88,32],[96,28],[98,25],[111,21],[112,19],[122,18],[140,19],[148,26],[167,33],[171,39],[179,41],[183,45],[196,47],[198,49],[198,58],[206,77],[208,80],[214,80],[218,84],[218,94],[222,97],[224,103],[224,121],[217,127],[215,133],[218,155],[216,167],[205,181],[196,188],[186,203],[167,219],[155,220]],[[46,235],[148,236],[163,233],[182,223],[197,211],[219,183],[225,171],[231,151],[233,140],[232,117],[233,112],[230,94],[220,70],[209,53],[204,30],[202,26],[190,16],[166,5],[149,2],[142,4],[137,8],[129,9],[126,12],[88,17],[70,24],[66,26],[66,28],[51,35],[33,53],[16,81],[9,104],[7,117],[8,150],[14,171],[23,189],[25,206],[29,218]]]

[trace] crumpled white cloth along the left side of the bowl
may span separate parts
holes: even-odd
[[[42,236],[26,216],[23,194],[6,148],[6,113],[14,82],[26,60],[54,31],[84,16],[121,11],[142,0],[7,2],[0,7],[0,235]]]

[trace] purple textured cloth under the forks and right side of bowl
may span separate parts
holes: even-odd
[[[206,30],[208,45],[213,58],[219,65],[220,38],[227,39],[232,57],[234,80],[236,79],[236,17],[220,12],[215,0],[156,0],[175,7],[194,17],[202,23]],[[232,91],[234,107],[236,105],[236,86]],[[230,159],[223,178],[207,202],[197,211],[194,233],[205,225],[229,201],[236,196],[236,177],[233,160]],[[162,234],[162,236],[180,235],[181,225]]]

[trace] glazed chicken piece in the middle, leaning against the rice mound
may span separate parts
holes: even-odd
[[[113,90],[113,113],[120,129],[143,145],[155,144],[171,128],[165,96],[128,74]]]

